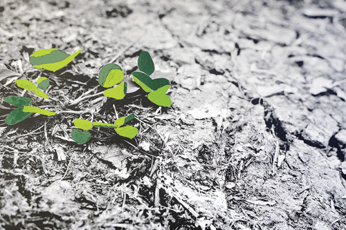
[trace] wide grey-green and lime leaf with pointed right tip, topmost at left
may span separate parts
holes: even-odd
[[[73,61],[80,51],[78,50],[73,55],[68,55],[66,52],[55,48],[37,50],[30,56],[29,61],[35,68],[44,68],[45,70],[55,72]]]

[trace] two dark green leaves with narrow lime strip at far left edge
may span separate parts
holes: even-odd
[[[4,97],[3,100],[8,104],[20,107],[16,108],[6,116],[5,123],[9,126],[24,121],[24,119],[30,117],[30,115],[32,115],[33,113],[39,113],[46,116],[55,115],[55,112],[46,111],[35,106],[28,106],[28,104],[33,103],[33,99],[28,97],[9,96]]]

